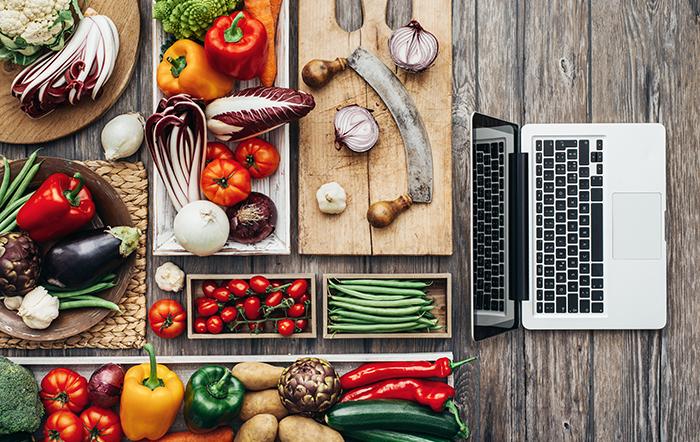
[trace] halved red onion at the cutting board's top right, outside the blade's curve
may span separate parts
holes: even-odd
[[[408,72],[422,72],[437,58],[437,38],[416,20],[400,27],[389,38],[389,54],[396,66]]]

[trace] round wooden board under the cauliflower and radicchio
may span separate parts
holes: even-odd
[[[139,47],[141,16],[138,0],[91,0],[90,7],[114,21],[119,32],[119,55],[111,78],[102,89],[102,95],[93,101],[83,98],[77,106],[64,105],[51,114],[33,120],[19,109],[19,103],[10,94],[12,81],[21,71],[19,67],[0,69],[0,142],[34,144],[70,135],[95,121],[121,96],[129,84],[136,64]]]

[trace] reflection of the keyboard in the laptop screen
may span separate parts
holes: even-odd
[[[477,143],[472,173],[476,180],[472,216],[477,310],[505,311],[505,143]]]

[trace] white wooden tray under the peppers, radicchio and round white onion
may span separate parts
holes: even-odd
[[[153,20],[153,109],[156,109],[163,94],[158,89],[155,72],[160,63],[160,46],[165,40],[165,34],[160,22]],[[277,24],[277,80],[276,86],[289,87],[289,0],[282,2],[282,9]],[[258,86],[258,80],[244,81],[237,84],[237,89]],[[253,180],[253,190],[269,196],[277,206],[277,226],[275,232],[267,239],[257,244],[240,244],[229,241],[216,255],[289,255],[291,253],[290,234],[290,183],[289,183],[289,125],[284,125],[267,133],[262,138],[276,146],[280,153],[280,166],[273,176]],[[214,140],[210,134],[209,140]],[[229,146],[234,148],[235,146]],[[153,254],[156,256],[191,255],[175,240],[173,220],[176,211],[170,203],[163,182],[155,169],[151,172],[151,188],[153,189]]]

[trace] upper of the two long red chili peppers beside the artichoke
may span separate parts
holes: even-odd
[[[352,370],[340,378],[343,390],[362,387],[386,379],[398,378],[446,378],[452,374],[452,370],[464,364],[472,362],[476,357],[459,362],[452,362],[447,358],[440,358],[435,362],[375,362],[364,364]]]

